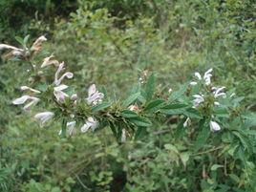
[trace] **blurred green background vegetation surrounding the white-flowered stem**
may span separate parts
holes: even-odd
[[[76,89],[95,82],[122,97],[149,71],[167,92],[212,67],[214,80],[235,87],[245,96],[244,108],[256,111],[254,0],[1,0],[0,12],[0,42],[18,46],[15,36],[30,34],[32,43],[46,35],[45,50],[75,72]],[[0,191],[256,190],[248,180],[256,178],[254,163],[245,168],[227,156],[232,174],[226,174],[211,168],[223,162],[218,157],[186,160],[180,153],[186,140],[173,139],[171,126],[156,125],[124,145],[109,130],[59,139],[53,127],[60,125],[39,128],[11,106],[26,77],[26,65],[2,57]],[[168,151],[166,143],[177,150]]]

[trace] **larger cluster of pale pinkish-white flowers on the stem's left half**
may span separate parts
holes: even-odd
[[[41,49],[41,44],[43,41],[45,41],[46,38],[44,36],[40,36],[38,39],[35,40],[35,42],[32,44],[31,49],[28,49],[29,52],[37,53]],[[13,46],[1,44],[1,49],[11,49],[12,54],[17,55],[23,55],[25,53],[25,50],[15,48]],[[66,93],[66,90],[69,88],[68,85],[63,83],[63,80],[65,78],[70,79],[74,77],[74,74],[71,72],[65,72],[65,64],[64,62],[59,62],[56,59],[54,59],[54,55],[51,54],[48,57],[45,57],[43,59],[43,63],[41,64],[40,68],[44,69],[47,67],[56,67],[56,72],[53,76],[53,103],[57,103],[58,105],[62,105],[66,102],[66,100],[69,98],[74,102],[74,105],[77,101],[77,94],[73,94],[69,96]],[[40,71],[41,74],[43,74],[42,71]],[[51,86],[50,86],[51,87]],[[21,86],[20,90],[23,92],[26,92],[26,95],[20,96],[14,100],[12,100],[12,104],[14,105],[21,105],[25,104],[23,109],[25,111],[30,111],[32,106],[36,105],[41,99],[40,96],[42,95],[42,92],[36,89],[33,89],[29,86]],[[96,90],[96,85],[92,84],[88,89],[88,97],[86,97],[84,100],[88,105],[95,106],[96,104],[99,104],[102,102],[104,95]],[[37,113],[34,115],[34,118],[40,122],[40,126],[44,126],[50,119],[54,117],[54,113],[51,111],[45,111],[41,113]],[[75,115],[71,115],[72,118],[75,118]],[[76,121],[72,120],[66,123],[66,133],[69,136],[75,135],[76,129],[75,129]],[[98,126],[98,121],[95,117],[87,117],[85,119],[84,124],[81,126],[80,131],[82,133],[86,133],[88,130],[95,131]],[[59,131],[59,134],[62,134],[62,129]]]

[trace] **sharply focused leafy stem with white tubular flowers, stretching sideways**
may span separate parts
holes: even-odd
[[[27,41],[25,37],[23,49],[6,44],[1,44],[0,49],[11,49],[9,55],[32,61],[46,37],[40,36],[30,49]],[[139,138],[156,122],[166,123],[166,118],[175,118],[177,132],[194,128],[197,133],[195,150],[199,150],[214,132],[232,133],[241,139],[246,149],[250,148],[251,143],[245,144],[241,138],[241,135],[251,135],[245,135],[242,129],[250,116],[239,107],[241,97],[235,97],[233,91],[224,92],[223,86],[213,85],[213,69],[204,75],[195,73],[193,81],[182,85],[178,91],[169,89],[167,97],[164,93],[156,93],[156,75],[144,72],[130,96],[120,101],[111,100],[103,90],[96,88],[96,84],[89,86],[87,96],[76,93],[66,82],[75,75],[65,67],[53,54],[45,57],[41,65],[32,64],[28,84],[20,87],[25,94],[12,100],[14,105],[25,104],[23,109],[32,114],[37,111],[35,105],[41,104],[45,110],[37,111],[33,117],[41,126],[47,126],[51,119],[61,121],[58,133],[63,137],[110,128],[117,140],[124,142],[128,138]],[[53,77],[47,76],[48,71],[54,71]]]

